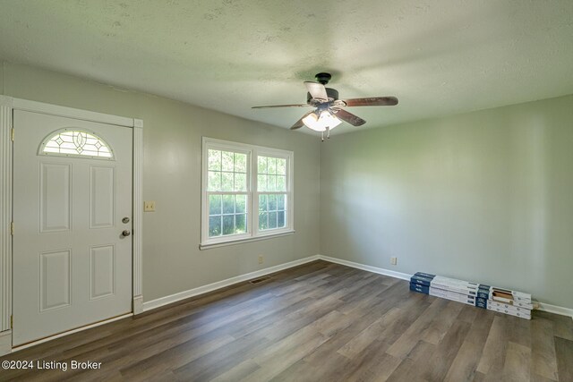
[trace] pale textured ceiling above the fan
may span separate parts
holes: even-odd
[[[573,93],[573,1],[0,0],[0,59],[282,127],[304,110],[250,107],[326,71],[399,98],[363,129]]]

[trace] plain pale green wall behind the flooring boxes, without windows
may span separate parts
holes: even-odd
[[[573,96],[334,136],[321,254],[573,308],[572,167]]]

